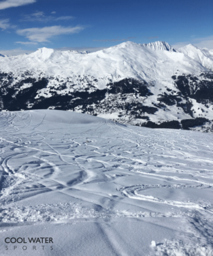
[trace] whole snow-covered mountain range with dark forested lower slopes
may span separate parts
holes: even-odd
[[[211,64],[181,51],[166,42],[123,42],[95,53],[39,48],[29,55],[0,58],[0,107],[63,109],[123,124],[199,125],[210,131]]]

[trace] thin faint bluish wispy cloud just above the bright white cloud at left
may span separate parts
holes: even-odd
[[[39,21],[42,23],[48,23],[48,22],[52,22],[52,21],[57,21],[57,20],[71,20],[73,19],[73,16],[60,16],[60,17],[56,17],[56,16],[46,16],[44,14],[44,12],[34,12],[33,14],[28,14],[28,15],[24,15],[23,18],[20,21]]]

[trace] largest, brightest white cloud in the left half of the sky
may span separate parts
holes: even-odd
[[[63,27],[63,26],[52,26],[52,27],[34,27],[30,29],[18,29],[16,33],[18,35],[25,36],[33,42],[48,42],[48,38],[52,38],[54,35],[65,35],[71,33],[78,33],[82,29],[82,26],[76,27]]]

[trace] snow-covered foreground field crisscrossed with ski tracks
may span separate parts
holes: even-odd
[[[212,134],[51,110],[0,126],[1,255],[213,255]]]

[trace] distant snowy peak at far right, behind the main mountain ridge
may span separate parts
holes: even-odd
[[[184,53],[201,63],[204,67],[213,70],[213,50],[208,48],[199,48],[193,44],[188,44],[182,48],[178,48],[179,53]]]

